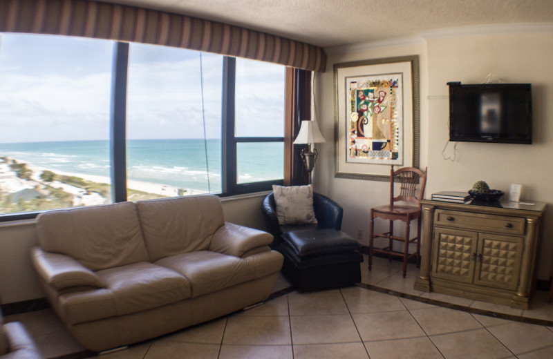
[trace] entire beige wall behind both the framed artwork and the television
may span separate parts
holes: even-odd
[[[368,211],[387,201],[388,188],[380,182],[333,177],[332,64],[377,57],[419,55],[421,81],[421,165],[428,166],[427,197],[437,191],[467,191],[485,180],[491,188],[508,193],[509,184],[523,184],[521,200],[547,202],[543,244],[538,258],[538,279],[548,280],[553,251],[553,36],[551,33],[478,35],[428,39],[418,46],[371,49],[329,57],[327,72],[317,81],[317,109],[326,144],[317,162],[315,186],[344,206],[344,231],[367,242]],[[444,159],[447,144],[448,81],[482,83],[488,74],[510,83],[532,83],[534,144],[457,145],[455,162]],[[453,144],[447,146],[453,155]]]

